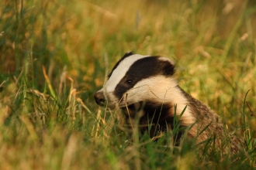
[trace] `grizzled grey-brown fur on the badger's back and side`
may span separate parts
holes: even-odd
[[[227,153],[227,148],[230,146],[230,151],[232,153],[237,153],[244,145],[244,142],[240,138],[229,137],[227,131],[224,130],[223,123],[218,114],[201,101],[195,100],[195,98],[191,97],[188,93],[185,93],[185,91],[182,90],[182,92],[187,100],[189,100],[188,106],[192,110],[191,113],[194,117],[197,117],[197,121],[190,129],[188,135],[192,138],[196,138],[197,144],[212,138],[214,140],[213,143],[218,150],[224,149],[224,153]]]

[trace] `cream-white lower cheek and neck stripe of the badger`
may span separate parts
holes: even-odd
[[[189,102],[182,95],[182,91],[177,86],[178,83],[171,77],[153,76],[141,80],[133,88],[123,94],[124,99],[119,103],[119,107],[125,107],[126,104],[136,104],[140,101],[150,101],[161,104],[170,103],[177,104],[177,115],[180,115]],[[174,107],[172,109],[174,109]],[[174,110],[172,113],[174,113]],[[192,117],[190,113],[190,108],[187,107],[181,118],[183,124],[188,125],[195,122],[195,118]]]

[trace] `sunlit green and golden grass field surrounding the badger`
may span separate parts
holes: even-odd
[[[255,30],[254,1],[2,0],[0,169],[256,168]],[[93,98],[128,51],[174,60],[180,86],[245,150],[131,143],[120,111]]]

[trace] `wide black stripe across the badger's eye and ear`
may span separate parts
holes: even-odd
[[[123,97],[123,93],[130,90],[140,80],[150,78],[151,76],[172,76],[175,73],[175,66],[168,60],[159,59],[160,56],[150,56],[138,59],[130,66],[126,75],[117,84],[114,94],[118,99]]]

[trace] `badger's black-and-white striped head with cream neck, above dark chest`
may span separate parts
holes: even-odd
[[[123,110],[142,102],[153,110],[165,104],[169,106],[167,111],[170,116],[174,114],[177,104],[176,114],[181,114],[188,101],[182,95],[174,73],[175,65],[171,59],[126,53],[109,73],[103,88],[95,93],[95,102],[100,106],[107,104],[110,109],[120,107]],[[193,123],[189,108],[182,119],[187,120],[185,124]]]

